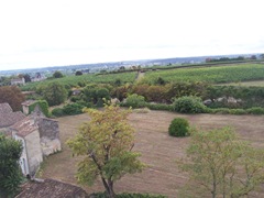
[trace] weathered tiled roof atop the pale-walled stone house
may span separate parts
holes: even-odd
[[[11,129],[16,131],[16,135],[23,138],[37,130],[37,125],[32,117],[26,117],[23,120],[14,123]]]

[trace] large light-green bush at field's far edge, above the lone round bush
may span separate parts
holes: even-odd
[[[199,97],[185,96],[177,98],[174,103],[174,110],[182,113],[204,113],[206,106]]]

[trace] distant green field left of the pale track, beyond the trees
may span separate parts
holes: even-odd
[[[44,81],[30,82],[21,87],[22,90],[32,90],[38,85],[46,85],[48,82],[58,81],[63,85],[68,85],[70,87],[78,86],[78,82],[91,84],[111,84],[117,79],[121,79],[122,82],[133,82],[135,80],[136,73],[122,73],[122,74],[108,74],[108,75],[81,75],[81,76],[66,76],[63,78],[47,79]]]

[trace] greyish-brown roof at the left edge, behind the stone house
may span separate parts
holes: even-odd
[[[0,103],[0,128],[8,128],[25,118],[21,111],[13,112],[8,103]]]

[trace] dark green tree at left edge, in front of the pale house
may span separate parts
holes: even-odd
[[[22,144],[0,134],[0,197],[14,196],[22,182],[19,158]]]

